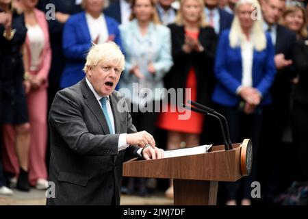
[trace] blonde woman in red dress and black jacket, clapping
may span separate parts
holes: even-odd
[[[183,93],[184,103],[193,100],[208,105],[211,86],[214,84],[213,65],[217,37],[214,29],[205,21],[203,8],[203,0],[182,0],[175,23],[168,25],[171,30],[174,66],[166,75],[165,82],[167,88],[190,90]],[[189,119],[179,120],[181,113],[174,110],[175,104],[169,103],[166,107],[168,112],[159,114],[157,126],[168,131],[167,149],[198,146],[203,129],[203,115],[192,112]],[[166,196],[173,197],[172,183],[166,190]]]

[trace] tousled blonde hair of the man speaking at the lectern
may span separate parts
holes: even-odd
[[[93,44],[86,57],[84,72],[87,73],[89,68],[97,66],[99,62],[116,62],[122,72],[125,66],[125,57],[115,42]]]

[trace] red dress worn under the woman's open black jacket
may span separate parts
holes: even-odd
[[[192,101],[196,101],[197,83],[194,68],[191,68],[190,72],[188,73],[186,88],[191,89],[191,97],[188,97],[186,100],[191,99]],[[172,110],[171,112],[172,106],[170,104],[164,107],[167,107],[167,111],[166,109],[164,109],[165,112],[159,113],[157,119],[157,127],[159,127],[160,129],[196,134],[200,134],[202,132],[204,120],[203,114],[198,114],[196,112],[190,111],[190,118],[188,118],[187,120],[179,120],[179,116],[183,116],[185,112],[179,112],[177,109]]]

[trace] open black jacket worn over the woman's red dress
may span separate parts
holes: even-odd
[[[188,73],[194,68],[197,82],[197,101],[203,104],[209,102],[214,89],[214,56],[217,36],[212,27],[201,28],[198,40],[204,47],[202,53],[184,53],[185,29],[176,24],[168,25],[171,30],[172,58],[174,65],[165,77],[166,88],[185,88]]]

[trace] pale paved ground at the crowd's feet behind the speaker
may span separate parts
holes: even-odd
[[[45,205],[45,192],[31,189],[30,192],[14,190],[13,196],[0,195],[0,205]],[[173,200],[164,197],[163,192],[156,192],[148,197],[121,196],[121,205],[173,205]]]

